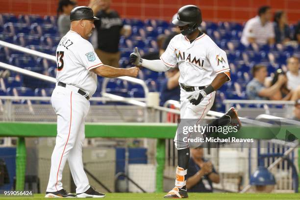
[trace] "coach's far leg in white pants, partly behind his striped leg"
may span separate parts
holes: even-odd
[[[74,148],[70,151],[68,162],[71,174],[76,185],[76,194],[83,193],[90,188],[89,180],[83,169],[82,145],[84,142],[84,119],[80,126],[78,137]]]

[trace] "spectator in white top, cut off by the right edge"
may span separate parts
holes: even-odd
[[[296,90],[300,86],[300,65],[299,58],[292,56],[287,59],[288,72],[286,73],[288,82],[287,88],[290,90]]]

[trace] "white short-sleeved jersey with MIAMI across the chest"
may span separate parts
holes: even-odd
[[[204,33],[192,43],[176,35],[160,59],[169,67],[178,63],[179,83],[186,86],[208,86],[217,74],[230,70],[225,51]]]

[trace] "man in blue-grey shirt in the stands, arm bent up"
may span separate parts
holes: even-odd
[[[271,87],[265,87],[265,79],[268,75],[267,67],[255,65],[252,68],[253,79],[247,84],[246,94],[250,100],[267,100],[276,92],[280,91],[283,84],[287,82],[285,75],[278,75],[278,80]]]

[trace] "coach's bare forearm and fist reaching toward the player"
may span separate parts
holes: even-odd
[[[107,78],[115,78],[119,76],[131,76],[136,77],[139,73],[138,67],[131,67],[131,68],[115,68],[108,65],[102,65],[100,67],[96,67],[91,69],[97,75],[107,77]]]

